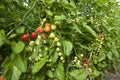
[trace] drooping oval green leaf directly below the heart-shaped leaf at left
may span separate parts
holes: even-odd
[[[20,55],[17,54],[15,56],[14,64],[21,72],[26,72],[27,70],[26,60],[22,59]]]

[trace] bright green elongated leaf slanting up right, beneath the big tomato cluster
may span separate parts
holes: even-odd
[[[32,73],[37,73],[46,63],[47,57],[42,58],[39,62],[36,62],[33,66]]]

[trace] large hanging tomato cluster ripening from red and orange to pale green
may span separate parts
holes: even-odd
[[[31,68],[44,59],[48,67],[52,66],[57,60],[65,62],[62,41],[57,35],[56,28],[55,24],[43,22],[43,25],[39,26],[36,31],[22,35],[22,40],[27,44],[26,50],[28,51],[28,61]],[[55,59],[54,56],[56,56]]]

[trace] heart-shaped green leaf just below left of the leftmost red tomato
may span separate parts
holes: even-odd
[[[11,43],[12,51],[13,51],[13,53],[16,53],[16,54],[22,52],[24,47],[25,47],[25,44],[21,41],[19,41],[18,43],[16,43],[15,41],[12,41],[12,43]]]

